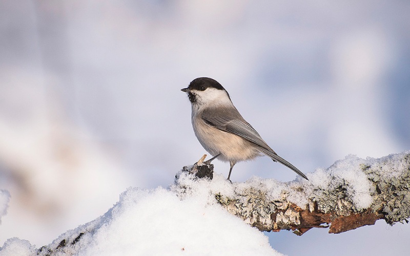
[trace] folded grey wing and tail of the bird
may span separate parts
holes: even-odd
[[[273,161],[277,161],[289,167],[295,173],[305,178],[306,180],[308,179],[302,172],[300,172],[298,168],[296,168],[290,162],[278,156],[276,152],[273,151],[272,148],[266,142],[263,141],[263,139],[260,137],[258,132],[256,132],[256,130],[252,127],[252,125],[245,121],[236,109],[234,110],[235,111],[219,109],[204,111],[201,114],[201,118],[209,125],[214,126],[215,128],[221,131],[238,135],[243,139],[256,144],[256,148],[261,153],[269,156]]]

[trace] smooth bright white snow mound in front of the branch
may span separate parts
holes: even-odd
[[[161,187],[128,189],[95,224],[97,231],[89,237],[93,244],[84,251],[86,255],[277,254],[261,232],[219,206],[204,204],[201,196],[181,201]]]

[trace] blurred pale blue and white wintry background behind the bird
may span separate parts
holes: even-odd
[[[181,88],[218,80],[302,172],[410,149],[410,2],[0,1],[0,245],[37,248],[206,152]],[[228,175],[229,164],[215,161]],[[291,181],[262,157],[235,166]],[[282,253],[407,253],[409,225],[266,233]]]

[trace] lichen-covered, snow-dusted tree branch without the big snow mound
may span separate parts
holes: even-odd
[[[283,183],[253,177],[232,183],[213,174],[213,165],[200,160],[183,167],[169,190],[219,204],[261,231],[293,230],[299,236],[311,228],[329,227],[340,233],[384,219],[388,224],[408,222],[410,216],[410,152],[380,159],[347,156],[332,166]],[[121,201],[117,204],[121,205]],[[111,211],[75,230],[69,230],[37,255],[60,255],[81,250],[96,230],[107,225]],[[140,221],[140,220],[135,220]],[[325,224],[325,225],[323,225]],[[82,242],[87,237],[87,242]]]

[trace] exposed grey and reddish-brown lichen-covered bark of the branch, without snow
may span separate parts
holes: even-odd
[[[314,227],[330,227],[329,233],[341,233],[374,225],[381,219],[391,225],[396,222],[408,223],[410,154],[407,152],[372,160],[363,160],[364,163],[358,164],[355,170],[362,172],[370,182],[368,193],[371,195],[371,204],[366,208],[358,207],[349,191],[354,181],[333,177],[332,186],[329,187],[313,186],[312,189],[311,185],[308,189],[306,184],[309,181],[302,184],[302,180],[299,180],[300,185],[297,182],[291,185],[288,183],[285,187],[289,189],[283,189],[281,198],[276,200],[268,196],[270,193],[265,187],[261,189],[260,186],[252,185],[245,189],[235,189],[234,196],[216,193],[215,198],[231,214],[261,231],[286,229],[293,230],[298,236]],[[212,174],[212,164],[199,164],[199,168],[197,165],[185,170],[199,174],[198,177],[212,179],[212,175],[203,175],[207,173],[207,168]],[[196,172],[197,168],[199,172]],[[334,168],[337,169],[338,166]],[[303,195],[306,203],[298,205],[293,202],[291,195],[294,194]]]

